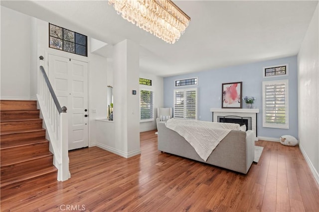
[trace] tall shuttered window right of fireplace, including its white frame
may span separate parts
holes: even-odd
[[[289,129],[288,80],[263,82],[263,127]]]

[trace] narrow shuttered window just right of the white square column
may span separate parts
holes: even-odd
[[[141,121],[154,120],[154,93],[149,90],[141,90],[140,98]]]

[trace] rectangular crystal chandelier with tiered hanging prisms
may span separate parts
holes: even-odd
[[[118,14],[167,43],[185,32],[190,17],[171,0],[109,0]]]

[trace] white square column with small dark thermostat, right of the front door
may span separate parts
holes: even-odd
[[[100,147],[123,157],[131,157],[140,154],[139,98],[132,95],[132,90],[139,91],[139,46],[130,40],[114,45],[113,68],[114,141],[97,140],[97,144],[112,144],[106,148]]]

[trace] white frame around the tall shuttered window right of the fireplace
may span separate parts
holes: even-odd
[[[282,84],[285,83],[286,94],[285,94],[285,107],[286,107],[286,124],[271,124],[266,123],[265,115],[266,115],[266,104],[265,104],[265,85],[266,84]],[[289,129],[289,80],[274,80],[274,81],[264,81],[263,82],[263,127],[271,127],[271,128],[280,128],[280,129]]]

